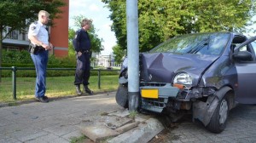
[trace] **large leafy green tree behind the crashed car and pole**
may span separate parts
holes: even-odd
[[[112,12],[112,31],[121,49],[126,48],[126,3],[102,0]],[[255,24],[255,0],[139,0],[139,49],[153,49],[180,34],[204,31],[246,31]],[[249,22],[248,22],[249,21]]]

